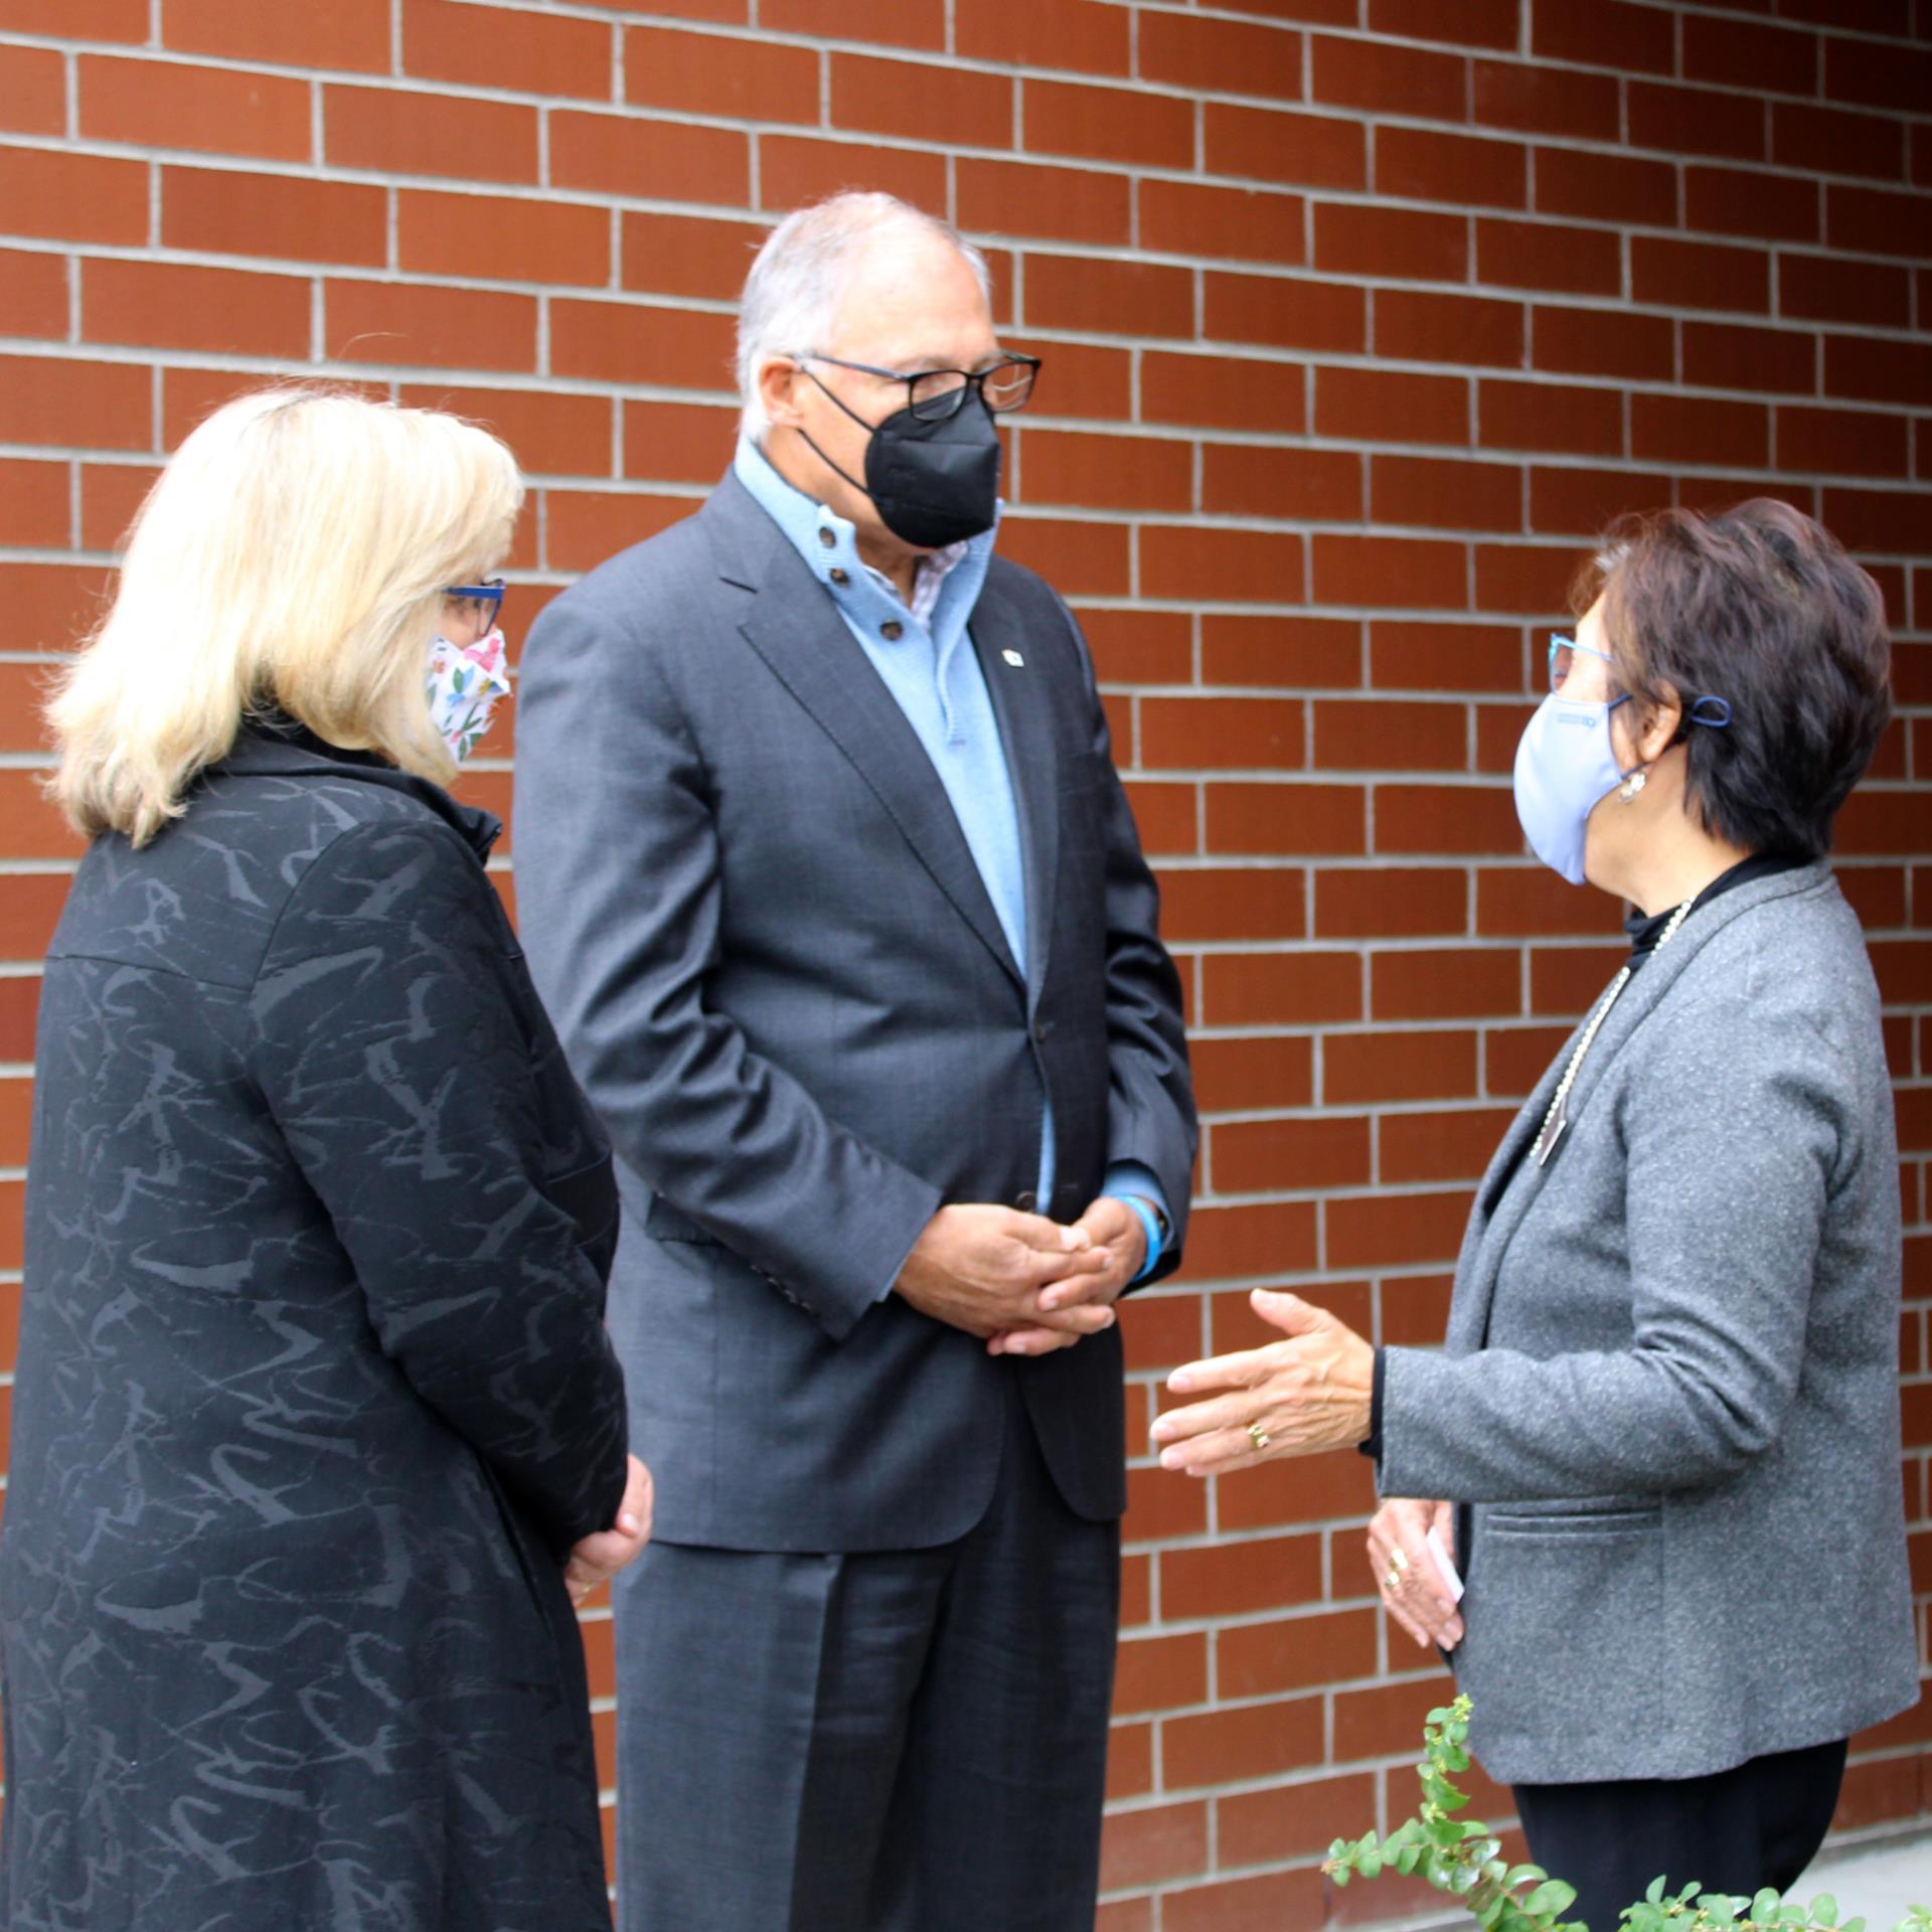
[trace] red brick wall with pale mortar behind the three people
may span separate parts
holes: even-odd
[[[290,369],[483,415],[537,479],[527,626],[721,473],[763,226],[891,187],[989,243],[1047,359],[1003,543],[1090,628],[1198,1030],[1136,1432],[1256,1333],[1250,1281],[1437,1335],[1470,1182],[1617,952],[1507,782],[1590,531],[1770,489],[1870,558],[1901,719],[1841,869],[1901,1082],[1932,1596],[1928,110],[1932,0],[0,0],[0,1264],[73,862],[33,680],[158,458]],[[502,804],[504,757],[471,784]],[[1376,1613],[1368,1472],[1215,1493],[1128,1447],[1103,1924],[1312,1924],[1441,1690]],[[1932,1810],[1928,1743],[1932,1706],[1861,1739],[1843,1824]]]

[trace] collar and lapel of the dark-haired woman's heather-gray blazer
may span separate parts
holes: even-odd
[[[1638,1030],[1658,1007],[1669,997],[1671,987],[1683,980],[1696,964],[1704,949],[1733,920],[1754,912],[1758,906],[1781,898],[1795,898],[1801,893],[1816,893],[1832,885],[1832,867],[1826,864],[1799,866],[1793,871],[1779,871],[1764,879],[1752,879],[1735,891],[1723,893],[1708,906],[1700,906],[1679,927],[1677,937],[1662,951],[1654,952],[1640,974],[1636,974],[1617,997],[1609,1016],[1604,1020],[1590,1051],[1577,1072],[1577,1084],[1569,1092],[1565,1115],[1569,1136],[1575,1136],[1590,1109],[1590,1095],[1609,1076],[1617,1055],[1636,1041]],[[1607,987],[1605,987],[1607,991]],[[1598,995],[1602,1001],[1602,995]],[[1592,1003],[1592,1012],[1596,1005]],[[1577,1039],[1588,1014],[1577,1030],[1563,1041],[1563,1051],[1544,1070],[1536,1090],[1524,1101],[1522,1111],[1511,1122],[1503,1144],[1495,1150],[1482,1186],[1476,1190],[1476,1208],[1470,1215],[1468,1235],[1463,1242],[1463,1258],[1457,1264],[1455,1298],[1449,1310],[1449,1349],[1466,1352],[1482,1347],[1482,1337],[1490,1325],[1490,1300],[1495,1294],[1495,1279],[1509,1252],[1509,1242],[1522,1225],[1536,1196],[1542,1192],[1544,1171],[1530,1159],[1530,1146],[1544,1124],[1549,1101],[1555,1097],[1557,1082],[1569,1057],[1577,1051]],[[1561,1161],[1563,1155],[1557,1155]],[[1528,1167],[1524,1163],[1530,1163]]]

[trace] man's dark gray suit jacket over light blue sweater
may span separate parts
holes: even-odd
[[[1068,1505],[1124,1505],[1117,1331],[999,1362],[877,1300],[943,1202],[1036,1206],[1049,1094],[1041,1209],[1076,1215],[1117,1159],[1188,1200],[1180,987],[1086,645],[997,558],[972,643],[1028,980],[916,732],[734,477],[529,638],[520,927],[620,1159],[611,1323],[668,1542],[949,1542],[993,1492],[1001,1376]]]

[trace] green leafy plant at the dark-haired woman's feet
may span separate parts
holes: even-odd
[[[1468,1797],[1453,1783],[1468,1770],[1470,1702],[1459,1696],[1432,1710],[1422,1729],[1422,1808],[1387,1837],[1374,1832],[1329,1845],[1321,1870],[1347,1886],[1350,1878],[1401,1872],[1447,1891],[1468,1907],[1482,1932],[1588,1932],[1580,1918],[1563,1915],[1577,1903],[1577,1888],[1551,1878],[1540,1864],[1509,1864],[1501,1841],[1472,1818],[1457,1818]],[[1652,1882],[1638,1905],[1621,1915],[1625,1932],[1864,1932],[1862,1918],[1837,1922],[1837,1901],[1820,1895],[1810,1905],[1764,1889],[1754,1899],[1733,1899],[1689,1884],[1665,1897],[1663,1880]],[[1915,1905],[1897,1932],[1932,1932],[1932,1911]]]

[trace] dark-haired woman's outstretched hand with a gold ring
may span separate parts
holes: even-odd
[[[1177,1395],[1213,1395],[1153,1424],[1161,1468],[1221,1476],[1277,1455],[1318,1455],[1368,1439],[1376,1350],[1325,1308],[1256,1289],[1254,1312],[1289,1341],[1188,1362],[1167,1378]]]

